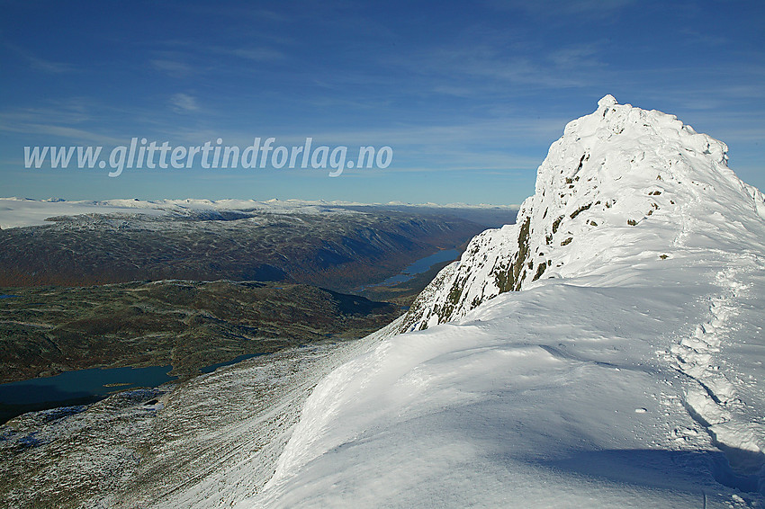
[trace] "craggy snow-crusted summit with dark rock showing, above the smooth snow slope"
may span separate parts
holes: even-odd
[[[597,274],[634,258],[635,246],[666,259],[705,237],[734,241],[731,226],[761,223],[765,201],[727,160],[725,143],[674,115],[605,96],[552,144],[517,224],[475,237],[422,292],[403,330],[463,317],[541,278]],[[713,228],[699,228],[699,221]]]

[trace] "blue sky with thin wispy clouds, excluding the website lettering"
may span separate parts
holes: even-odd
[[[765,189],[761,2],[2,1],[0,196],[519,203],[567,121],[676,114]],[[25,146],[359,146],[387,168],[23,167]]]

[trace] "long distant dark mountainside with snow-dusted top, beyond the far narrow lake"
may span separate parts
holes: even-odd
[[[383,281],[439,248],[460,246],[483,229],[448,213],[139,210],[59,216],[43,226],[0,231],[0,286],[181,279],[349,291]]]

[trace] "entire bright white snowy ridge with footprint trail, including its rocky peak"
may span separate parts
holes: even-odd
[[[604,97],[238,507],[763,506],[765,202],[725,152]]]

